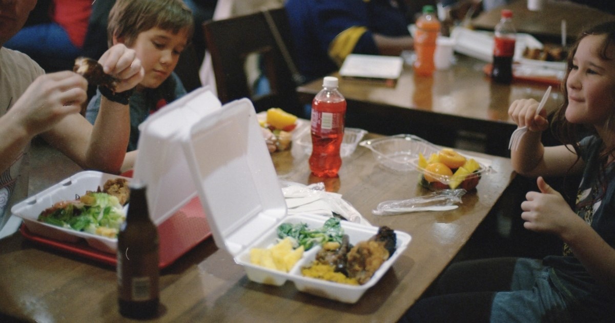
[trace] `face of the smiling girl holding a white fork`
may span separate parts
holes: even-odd
[[[605,38],[605,35],[585,36],[574,54],[566,80],[569,122],[603,127],[615,113],[615,46],[608,48],[610,60],[600,58]]]

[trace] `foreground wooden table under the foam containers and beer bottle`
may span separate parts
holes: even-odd
[[[365,138],[380,137],[368,134]],[[490,171],[458,209],[378,217],[379,202],[430,193],[415,171],[397,172],[379,164],[359,146],[343,159],[338,178],[325,180],[372,225],[411,235],[408,248],[357,303],[347,304],[298,292],[291,282],[276,287],[252,282],[242,266],[212,237],[161,270],[161,312],[154,322],[395,322],[418,300],[472,236],[515,177],[510,160],[479,153]],[[308,184],[308,156],[295,145],[272,154],[280,180]],[[31,150],[30,194],[54,185],[79,167],[54,148]],[[273,189],[273,188],[272,188]],[[81,255],[26,239],[22,233],[0,240],[0,319],[33,322],[121,322],[116,270]]]

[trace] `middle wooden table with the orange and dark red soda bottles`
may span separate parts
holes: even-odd
[[[347,100],[346,124],[378,134],[414,134],[438,145],[456,146],[460,134],[482,145],[481,151],[509,156],[508,140],[517,125],[508,115],[510,103],[521,98],[540,102],[553,86],[545,105],[547,113],[563,102],[558,82],[515,80],[492,82],[486,62],[463,54],[454,55],[448,70],[433,76],[417,76],[408,64],[394,85],[345,79],[338,72],[339,91]],[[300,100],[310,103],[322,89],[317,79],[297,88]]]

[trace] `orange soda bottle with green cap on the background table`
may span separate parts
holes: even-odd
[[[440,34],[440,21],[434,6],[424,6],[423,15],[416,20],[414,63],[415,73],[421,76],[434,74],[435,41]]]

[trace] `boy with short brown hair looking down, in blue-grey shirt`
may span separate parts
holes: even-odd
[[[127,151],[137,149],[138,126],[149,114],[186,94],[173,73],[181,52],[192,37],[191,10],[181,0],[117,0],[109,13],[109,45],[125,44],[135,50],[145,77],[127,98],[130,105],[130,140]],[[85,117],[94,122],[101,92],[90,100]],[[133,158],[135,154],[127,154]]]

